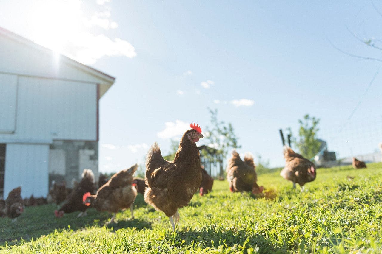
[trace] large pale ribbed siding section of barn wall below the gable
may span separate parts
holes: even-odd
[[[96,84],[19,76],[16,104],[15,132],[0,133],[0,143],[97,140]]]

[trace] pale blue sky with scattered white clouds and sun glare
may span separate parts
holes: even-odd
[[[187,124],[209,124],[207,107],[270,166],[284,164],[278,129],[297,133],[306,113],[329,150],[374,151],[382,140],[353,130],[380,133],[380,74],[363,95],[380,63],[330,42],[380,58],[346,27],[382,40],[381,21],[370,1],[0,1],[1,27],[116,78],[100,100],[102,172],[142,162],[154,141],[165,154]],[[337,135],[353,122],[367,124]]]

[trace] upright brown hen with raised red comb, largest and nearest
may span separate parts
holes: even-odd
[[[163,159],[155,142],[147,153],[144,200],[170,219],[173,230],[180,217],[178,209],[187,206],[198,190],[201,180],[201,162],[196,142],[203,138],[198,125],[190,124],[180,140],[173,161]],[[175,219],[175,222],[174,222]]]

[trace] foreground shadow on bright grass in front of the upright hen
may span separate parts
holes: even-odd
[[[223,246],[223,249],[225,249],[236,244],[236,251],[240,249],[244,253],[250,247],[258,248],[259,253],[288,253],[286,246],[275,246],[269,239],[265,239],[263,235],[249,233],[244,229],[233,230],[206,226],[198,230],[177,231],[175,235],[168,234],[165,236],[165,240],[174,244],[177,248],[180,248],[183,244],[195,247],[202,246],[202,248]]]

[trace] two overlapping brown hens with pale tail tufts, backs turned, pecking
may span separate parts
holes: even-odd
[[[253,194],[262,193],[263,186],[257,185],[256,166],[253,155],[246,153],[244,161],[236,150],[232,151],[232,158],[227,163],[227,180],[230,183],[231,192],[252,191]]]

